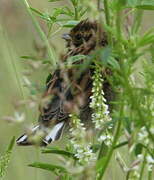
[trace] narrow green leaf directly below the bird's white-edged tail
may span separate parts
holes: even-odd
[[[75,158],[73,153],[71,153],[69,151],[61,150],[61,149],[55,149],[55,148],[46,148],[46,149],[43,149],[42,153],[52,153],[52,154],[64,155],[64,156],[67,156],[69,158],[70,157],[71,158]]]

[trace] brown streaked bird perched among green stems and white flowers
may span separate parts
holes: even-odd
[[[65,68],[63,64],[70,57],[87,56],[97,47],[106,47],[108,45],[106,32],[97,21],[85,19],[74,26],[69,33],[63,34],[62,38],[66,41],[67,51],[61,57],[62,63],[59,64],[62,65],[57,66],[54,73],[50,73],[47,77],[43,94],[47,102],[39,107],[38,125],[32,128],[30,133],[20,136],[16,141],[18,145],[35,145],[36,141],[33,137],[37,137],[39,133],[40,146],[47,146],[60,139],[63,130],[70,122],[69,115],[73,112],[76,112],[85,124],[91,119],[92,110],[89,104],[94,69],[85,65],[83,70],[80,70],[86,61],[84,58],[73,62],[73,67]],[[107,101],[110,101],[112,89],[109,82],[104,82],[103,87]]]

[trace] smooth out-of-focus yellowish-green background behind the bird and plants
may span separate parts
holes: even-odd
[[[29,0],[29,2],[32,7],[49,13],[52,12],[54,7],[67,4],[67,1],[49,3],[47,0]],[[145,13],[142,31],[154,25],[152,18],[154,18],[153,12]],[[45,30],[42,21],[40,21],[40,24]],[[68,29],[63,30],[63,32],[67,31]],[[60,31],[51,39],[51,45],[57,54],[64,51],[65,44],[61,39],[63,32]],[[35,44],[38,44],[40,47],[42,45],[39,35],[22,1],[0,0],[0,42],[0,154],[3,154],[10,139],[13,136],[17,138],[25,127],[23,123],[8,123],[6,119],[8,119],[8,117],[14,117],[15,112],[19,111],[21,118],[23,116],[26,117],[25,124],[31,125],[37,121],[38,117],[37,105],[33,108],[25,108],[25,106],[18,107],[17,105],[18,101],[23,100],[23,96],[26,100],[31,93],[23,84],[19,86],[18,79],[21,79],[24,73],[29,72],[29,66],[20,57],[36,54]],[[40,87],[44,86],[48,72],[49,68],[47,66],[39,69],[36,68],[33,73],[30,73],[30,83],[34,85],[37,84]],[[24,115],[22,113],[24,113]],[[18,115],[16,114],[16,116]],[[57,159],[57,157],[53,155],[39,154],[39,149],[35,147],[17,147],[15,145],[11,156],[11,163],[9,164],[8,172],[4,180],[55,179],[53,174],[49,172],[36,170],[27,166],[34,161],[54,163],[55,159]],[[118,167],[115,168],[114,164],[111,166],[113,166],[113,168],[110,169],[110,176],[107,179],[122,180],[121,170]]]

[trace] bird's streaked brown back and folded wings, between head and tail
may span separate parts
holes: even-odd
[[[40,121],[43,125],[49,126],[67,120],[73,108],[80,110],[89,103],[92,87],[90,70],[86,69],[79,76],[77,71],[56,70],[53,76],[49,75],[47,78],[44,98],[49,97],[49,100],[40,107]]]

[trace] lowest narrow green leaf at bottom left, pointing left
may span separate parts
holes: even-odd
[[[51,171],[51,172],[53,172],[56,175],[59,175],[61,173],[67,173],[67,170],[64,167],[58,166],[58,165],[54,165],[54,164],[34,162],[32,164],[29,164],[28,166],[44,169],[44,170],[47,170],[47,171]]]

